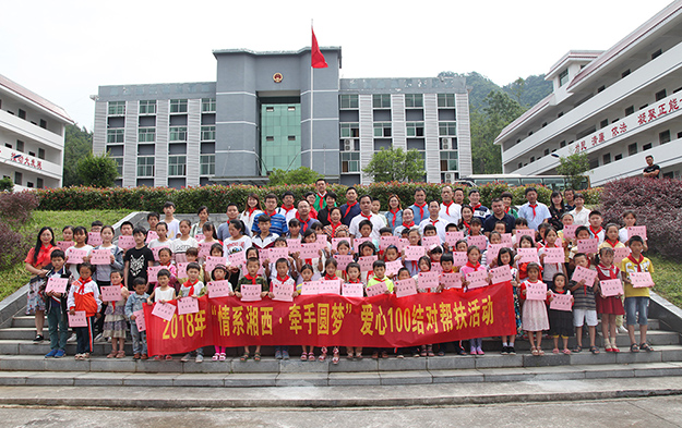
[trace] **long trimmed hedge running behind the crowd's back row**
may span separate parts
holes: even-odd
[[[369,194],[382,201],[382,208],[386,209],[388,196],[398,195],[403,201],[403,206],[414,203],[415,189],[423,187],[427,191],[427,200],[441,199],[441,188],[445,184],[434,183],[372,183],[368,185],[358,185],[359,195]],[[327,189],[334,191],[338,195],[338,203],[346,200],[346,189],[348,186],[340,184],[331,184]],[[549,204],[551,189],[543,186],[536,186],[538,189],[538,199],[541,203]],[[526,203],[524,192],[525,186],[510,187],[506,184],[486,184],[479,186],[481,193],[481,203],[490,207],[493,197],[498,197],[502,192],[510,191],[514,195],[513,203],[523,205]],[[26,192],[35,192],[40,200],[40,210],[84,210],[84,209],[131,209],[135,211],[160,211],[164,203],[171,200],[176,204],[176,211],[183,213],[192,213],[196,208],[205,205],[210,212],[224,212],[227,204],[230,201],[239,205],[243,209],[247,197],[250,193],[263,196],[274,193],[278,197],[285,191],[291,191],[297,200],[303,197],[309,191],[314,191],[312,184],[299,185],[279,185],[279,186],[247,186],[247,185],[212,185],[202,187],[183,187],[181,189],[167,187],[61,187],[45,188]],[[468,192],[465,188],[465,192]],[[586,204],[599,204],[599,188],[590,188],[583,192],[586,195]],[[468,195],[467,195],[468,196]],[[466,199],[468,201],[468,198]]]

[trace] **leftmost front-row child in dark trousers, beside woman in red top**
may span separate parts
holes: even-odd
[[[61,358],[67,355],[67,339],[69,338],[69,319],[67,317],[67,295],[71,289],[72,277],[64,267],[65,255],[61,249],[55,249],[50,254],[52,269],[45,276],[46,281],[50,278],[68,279],[64,294],[50,291],[46,293],[45,311],[47,313],[48,331],[50,334],[50,352],[46,358]]]

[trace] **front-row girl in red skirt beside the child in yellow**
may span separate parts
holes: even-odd
[[[594,211],[593,211],[594,212]],[[618,231],[618,228],[612,230]],[[599,265],[597,265],[597,279],[599,281],[620,279],[621,270],[613,266],[613,248],[602,247],[599,249]],[[597,314],[601,315],[601,334],[603,335],[603,347],[607,352],[619,353],[621,350],[615,345],[615,317],[624,315],[621,296],[606,297],[601,293],[600,283],[597,283],[595,293]],[[609,340],[610,338],[610,340]]]

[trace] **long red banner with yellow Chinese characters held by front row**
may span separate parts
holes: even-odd
[[[214,344],[404,347],[516,333],[511,282],[400,298],[316,295],[242,303],[204,296],[199,313],[176,311],[170,321],[152,309],[144,305],[149,355]]]

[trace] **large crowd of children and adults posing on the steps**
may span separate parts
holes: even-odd
[[[359,196],[355,187],[348,187],[346,201],[340,206],[337,195],[326,189],[324,180],[318,181],[315,187],[315,193],[297,204],[291,192],[280,195],[282,205],[277,195],[266,195],[262,204],[258,195],[251,194],[243,210],[229,204],[228,220],[219,225],[210,220],[206,207],[198,209],[196,222],[179,221],[175,218],[175,205],[168,201],[163,207],[164,215],[147,215],[148,230],[124,222],[116,243],[113,229],[100,222],[94,222],[89,232],[81,225],[67,227],[58,243],[53,231],[43,228],[25,260],[26,269],[35,274],[27,305],[27,310],[36,314],[35,340],[44,340],[47,313],[51,351],[46,357],[64,356],[68,315],[84,311],[85,326],[73,328],[76,359],[89,357],[97,333],[111,339],[107,357],[124,357],[128,332],[133,339],[133,358],[146,359],[149,355],[145,332],[139,331],[135,322],[143,305],[200,297],[213,281],[229,281],[230,295],[237,298],[242,297],[244,284],[260,285],[262,298],[273,298],[274,290],[279,288],[298,296],[303,284],[319,279],[362,283],[366,289],[383,283],[386,293],[393,292],[396,281],[414,279],[418,292],[440,293],[451,286],[472,290],[469,274],[479,271],[488,272],[482,286],[495,286],[490,272],[504,268],[511,271],[517,334],[502,338],[502,354],[515,354],[516,339],[527,337],[533,355],[541,356],[542,337],[548,332],[553,339],[553,353],[582,352],[585,323],[589,352],[598,354],[595,339],[599,317],[606,352],[620,352],[615,337],[619,330],[624,332],[623,316],[630,351],[653,351],[646,341],[649,289],[633,286],[631,273],[651,272],[654,268],[643,256],[647,248],[645,237],[629,231],[636,225],[634,212],[623,212],[622,224],[605,225],[600,212],[585,207],[582,194],[572,189],[554,192],[548,207],[537,200],[534,187],[526,188],[527,201],[518,209],[506,192],[493,198],[489,209],[482,206],[477,188],[468,189],[465,204],[465,189],[448,185],[442,187],[441,200],[427,200],[426,191],[417,188],[409,206],[391,195],[387,210],[382,211],[379,199]],[[88,244],[94,234],[100,237],[96,246]],[[132,240],[121,237],[127,235]],[[299,245],[315,243],[315,253],[303,257]],[[272,247],[288,247],[287,256],[270,259],[263,250]],[[412,252],[410,247],[421,249]],[[630,248],[626,257],[619,249],[625,247]],[[552,248],[561,248],[561,261]],[[108,249],[110,262],[91,264],[95,249]],[[230,255],[239,252],[244,252],[241,261],[230,262]],[[349,255],[352,261],[339,266],[339,256]],[[208,269],[207,256],[225,257],[225,261]],[[371,264],[360,264],[361,260]],[[438,288],[420,286],[419,273],[429,271],[438,272]],[[588,271],[593,274],[586,276]],[[460,276],[459,285],[453,285],[453,273]],[[46,292],[50,278],[68,279],[67,291]],[[619,280],[621,291],[605,294],[600,284],[609,280]],[[103,286],[120,288],[120,299],[103,303]],[[538,288],[543,290],[541,299],[537,298]],[[533,298],[528,295],[530,290]],[[571,296],[567,310],[551,307],[559,295]],[[639,341],[635,338],[636,325]],[[570,347],[569,338],[573,335],[576,343]],[[435,356],[444,355],[446,347],[444,343],[424,344],[395,352],[399,358]],[[484,355],[482,338],[469,338],[468,344],[456,342],[454,348],[457,354],[468,351]],[[372,350],[372,357],[388,357],[390,351]],[[322,347],[315,354],[313,346],[303,345],[300,358],[325,360],[328,353],[332,362],[338,363],[338,346]],[[349,359],[362,358],[362,348],[347,347],[346,354]],[[172,359],[171,355],[153,357]],[[204,350],[188,353],[181,360],[192,357],[196,363],[203,362]],[[240,359],[251,357],[246,346]],[[288,359],[289,347],[277,346],[275,357]],[[260,346],[253,358],[261,359]],[[216,345],[213,360],[225,359],[225,347]]]

